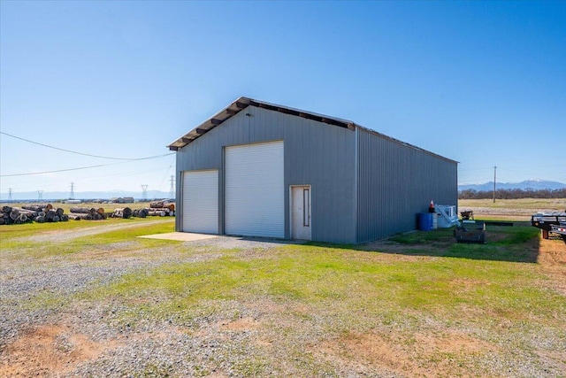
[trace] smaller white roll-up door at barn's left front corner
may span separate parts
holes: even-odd
[[[184,232],[218,234],[218,171],[183,172]]]

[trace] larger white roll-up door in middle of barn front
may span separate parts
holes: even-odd
[[[226,147],[225,232],[285,237],[283,142]]]

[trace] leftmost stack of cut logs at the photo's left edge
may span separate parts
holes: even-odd
[[[69,216],[61,208],[54,209],[52,204],[28,205],[21,207],[3,206],[0,209],[0,225],[65,222]]]

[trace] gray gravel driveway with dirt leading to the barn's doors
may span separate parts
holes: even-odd
[[[157,223],[160,221],[157,220]],[[35,245],[70,242],[88,235],[138,224],[114,224],[72,231],[47,231],[20,241]],[[242,254],[267,251],[289,242],[233,236],[144,249],[138,241],[101,245],[92,250],[49,258],[16,258],[17,251],[0,255],[0,376],[121,377],[230,376],[233,361],[210,365],[212,353],[231,353],[246,359],[242,339],[254,333],[253,317],[241,304],[227,301],[226,311],[246,315],[235,326],[221,319],[190,327],[172,321],[145,320],[136,327],[120,323],[126,309],[113,301],[67,301],[88,289],[114,282],[124,274],[164,264],[200,262],[223,256],[222,250]],[[134,249],[134,252],[123,252]],[[186,253],[190,249],[194,253]],[[152,300],[159,300],[153,297]],[[233,331],[237,328],[237,332]],[[203,329],[214,333],[210,335]],[[193,334],[203,332],[202,336]],[[141,370],[140,366],[145,366]],[[227,372],[227,375],[226,375]]]

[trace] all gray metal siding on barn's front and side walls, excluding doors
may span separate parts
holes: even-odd
[[[457,204],[455,161],[363,128],[355,132],[255,106],[178,150],[177,182],[182,171],[219,170],[218,229],[224,233],[224,148],[280,140],[287,238],[290,185],[311,185],[312,240],[329,243],[364,243],[415,229],[417,212],[425,212],[431,199]],[[182,200],[181,192],[178,185]]]

